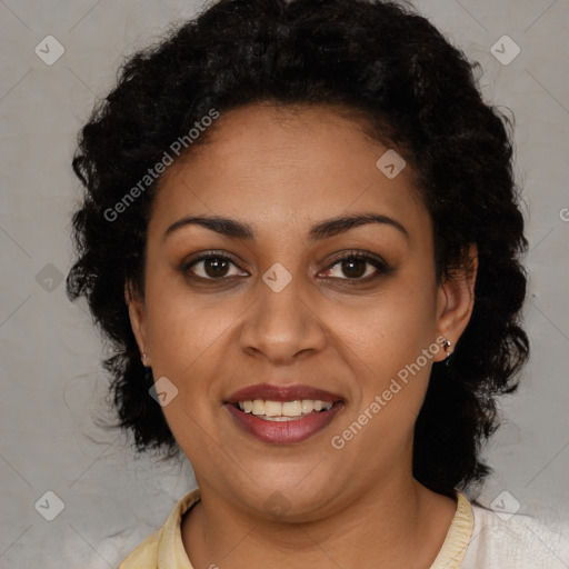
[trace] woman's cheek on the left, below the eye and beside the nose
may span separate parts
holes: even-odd
[[[163,415],[187,456],[209,456],[208,446],[217,439],[211,428],[219,405],[216,379],[228,372],[222,346],[236,323],[238,307],[236,302],[214,301],[213,297],[198,299],[177,287],[151,284],[152,292],[154,302],[148,303],[152,371],[154,380],[166,377],[177,390],[162,408]]]

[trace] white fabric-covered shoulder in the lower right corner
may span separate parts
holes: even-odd
[[[473,528],[461,569],[569,567],[569,526],[471,502]]]

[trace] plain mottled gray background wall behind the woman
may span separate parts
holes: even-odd
[[[109,416],[103,343],[84,303],[71,305],[58,277],[72,258],[78,129],[124,56],[200,6],[0,0],[1,568],[117,567],[194,487],[188,465],[134,458],[124,436],[94,422]],[[532,359],[519,393],[502,403],[503,427],[487,451],[496,472],[479,501],[489,505],[506,490],[507,507],[519,503],[521,512],[558,523],[569,518],[569,0],[416,6],[480,61],[485,98],[516,117]],[[50,34],[66,51],[48,66],[34,48]],[[508,64],[490,51],[503,34],[521,49]],[[53,521],[34,507],[47,491],[64,503]]]

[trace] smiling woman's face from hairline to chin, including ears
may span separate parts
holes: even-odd
[[[440,336],[457,341],[472,300],[469,281],[437,284],[409,167],[397,174],[388,154],[380,169],[388,149],[327,108],[248,106],[211,128],[161,180],[146,296],[130,301],[198,483],[290,519],[409,483]],[[331,223],[355,216],[377,220]],[[180,222],[190,217],[231,222]],[[302,387],[234,396],[261,383]],[[246,412],[247,400],[271,402]],[[333,406],[313,411],[315,400]]]

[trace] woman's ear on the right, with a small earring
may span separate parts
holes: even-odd
[[[475,307],[475,283],[478,271],[478,248],[471,244],[468,259],[459,270],[445,278],[438,290],[437,299],[437,332],[451,342],[448,353],[452,353],[459,338],[462,336]],[[442,361],[448,355],[440,349],[435,361]]]

